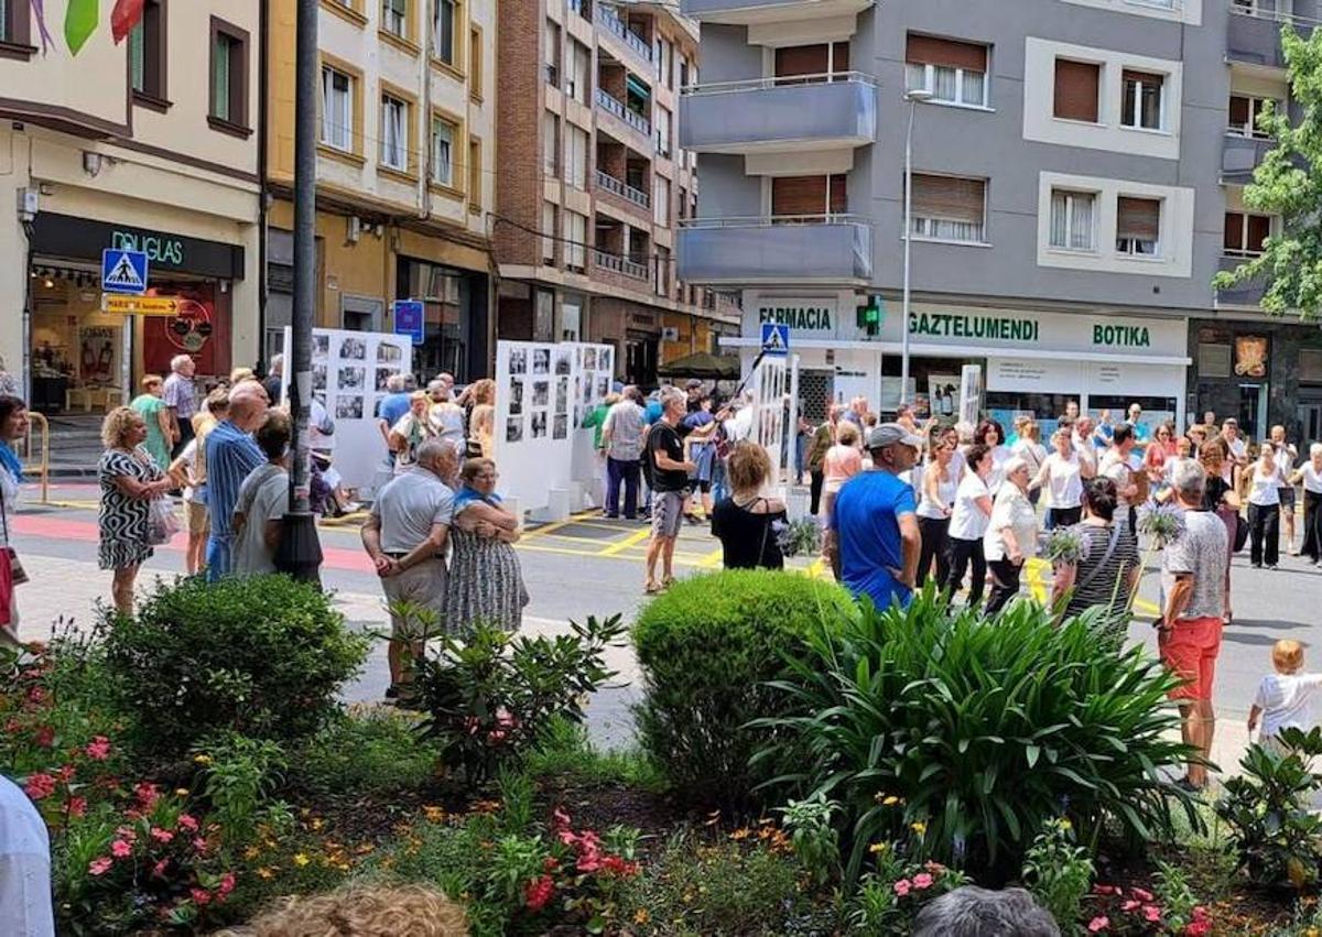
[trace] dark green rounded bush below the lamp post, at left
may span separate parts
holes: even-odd
[[[177,757],[215,730],[315,732],[368,653],[313,585],[284,576],[157,584],[137,617],[107,612],[106,662],[144,751]]]

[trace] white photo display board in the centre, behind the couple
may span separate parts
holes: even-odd
[[[592,481],[582,452],[590,431],[579,427],[611,391],[613,374],[609,345],[496,342],[496,464],[501,494],[521,510],[558,517],[579,506],[570,496]]]

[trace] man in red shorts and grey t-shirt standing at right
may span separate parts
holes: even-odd
[[[1216,514],[1202,510],[1207,485],[1202,465],[1183,463],[1175,470],[1171,485],[1175,502],[1185,511],[1185,529],[1162,550],[1161,580],[1166,608],[1158,644],[1166,666],[1185,679],[1171,698],[1179,703],[1185,743],[1200,755],[1190,760],[1179,784],[1190,790],[1202,790],[1207,786],[1206,761],[1216,728],[1212,677],[1225,621],[1227,533]]]

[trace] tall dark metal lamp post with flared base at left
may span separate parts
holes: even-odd
[[[321,543],[308,500],[308,411],[312,404],[312,322],[316,315],[317,0],[299,0],[293,96],[293,340],[290,415],[293,465],[290,510],[275,564],[295,579],[320,581]]]

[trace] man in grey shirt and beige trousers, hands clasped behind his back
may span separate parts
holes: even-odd
[[[405,650],[422,657],[423,645],[440,624],[446,608],[446,544],[455,513],[455,449],[439,439],[424,440],[416,464],[397,474],[377,494],[362,527],[362,546],[377,566],[381,589],[390,609],[390,663],[387,699],[399,696],[406,673]],[[408,615],[401,615],[407,603]]]

